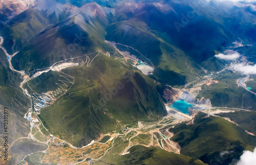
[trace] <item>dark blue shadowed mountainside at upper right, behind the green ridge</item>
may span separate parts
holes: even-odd
[[[222,24],[204,17],[200,10],[193,10],[188,3],[163,1],[133,4],[133,7],[132,11],[117,11],[117,20],[138,19],[145,22],[151,30],[168,37],[169,44],[183,50],[197,63],[214,56],[214,50],[222,50],[223,46],[231,44],[232,36]]]

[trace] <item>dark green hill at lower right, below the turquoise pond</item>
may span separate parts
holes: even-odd
[[[175,135],[172,140],[181,146],[181,153],[198,158],[205,163],[228,164],[239,159],[243,150],[252,151],[256,137],[248,135],[244,129],[229,121],[199,113],[195,124],[181,124],[169,129]]]

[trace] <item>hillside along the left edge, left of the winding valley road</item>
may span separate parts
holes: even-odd
[[[20,74],[11,71],[8,68],[6,55],[0,50],[0,125],[4,128],[4,125],[8,123],[8,129],[1,129],[0,134],[8,134],[8,144],[12,145],[9,148],[9,160],[6,162],[3,160],[3,151],[1,150],[1,164],[16,164],[22,161],[26,154],[32,152],[38,152],[47,149],[47,145],[39,144],[28,138],[30,131],[30,125],[28,120],[24,118],[24,115],[28,112],[31,106],[30,100],[25,97],[22,90],[19,88],[19,84],[22,81]],[[4,113],[4,110],[5,113]],[[8,115],[7,122],[4,121],[4,115]],[[25,139],[19,139],[23,137]],[[3,139],[1,139],[3,140]],[[15,143],[14,143],[15,142]],[[9,146],[10,147],[10,146]],[[4,163],[3,163],[4,162]]]

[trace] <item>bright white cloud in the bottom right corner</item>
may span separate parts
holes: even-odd
[[[237,165],[256,165],[256,147],[254,151],[244,151]]]

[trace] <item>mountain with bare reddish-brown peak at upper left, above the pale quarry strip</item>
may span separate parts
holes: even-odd
[[[104,42],[104,28],[100,19],[92,23],[75,15],[49,26],[45,31],[30,40],[30,44],[12,59],[17,70],[33,72],[35,69],[46,68],[56,62],[98,51],[109,51],[114,48]],[[81,22],[77,22],[76,20]],[[29,65],[28,65],[29,64]]]

